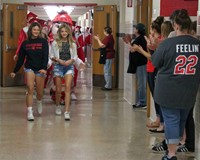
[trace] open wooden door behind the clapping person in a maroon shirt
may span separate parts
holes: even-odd
[[[112,81],[113,81],[113,88],[117,87],[117,38],[116,33],[118,31],[118,16],[117,16],[117,6],[115,5],[104,5],[104,6],[95,6],[94,7],[94,14],[93,14],[93,29],[94,35],[99,35],[101,39],[104,38],[103,30],[104,27],[111,27],[113,31],[113,37],[115,40],[115,59],[112,65]],[[97,41],[92,39],[92,48],[97,49],[99,45]],[[99,64],[99,51],[92,51],[93,56],[93,85],[103,87],[105,85],[104,82],[104,74],[103,74],[103,65]]]

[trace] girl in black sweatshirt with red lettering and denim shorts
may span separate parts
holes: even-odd
[[[19,50],[19,57],[14,71],[10,74],[15,77],[25,61],[25,76],[27,78],[27,95],[26,105],[28,109],[27,119],[33,121],[33,92],[34,84],[37,92],[37,109],[38,113],[42,113],[42,97],[44,89],[44,81],[47,70],[49,57],[49,46],[46,39],[41,38],[41,26],[37,22],[33,22],[27,32],[28,39],[25,40]]]

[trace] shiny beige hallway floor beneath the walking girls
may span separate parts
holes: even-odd
[[[49,89],[42,115],[35,111],[35,121],[28,122],[26,88],[0,88],[0,160],[161,160],[163,153],[153,153],[151,146],[164,135],[149,133],[146,111],[134,111],[123,90],[92,87],[89,69],[78,84],[71,121],[55,115]],[[178,154],[178,159],[194,156]]]

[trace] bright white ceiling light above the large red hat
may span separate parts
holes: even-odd
[[[68,15],[70,15],[71,12],[74,10],[74,8],[70,6],[44,6],[44,10],[49,16],[49,19],[53,20],[55,16],[58,14],[58,12],[64,10],[68,13]]]

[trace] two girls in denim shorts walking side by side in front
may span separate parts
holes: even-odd
[[[77,45],[72,35],[72,26],[70,23],[61,23],[51,43],[42,36],[42,27],[40,23],[33,21],[27,29],[28,31],[25,34],[26,38],[21,42],[19,47],[16,66],[10,74],[11,77],[14,78],[24,64],[27,85],[27,119],[28,121],[34,120],[34,90],[36,90],[37,97],[37,112],[42,114],[44,83],[48,62],[49,59],[51,59],[53,62],[53,77],[56,86],[55,113],[57,115],[62,114],[60,97],[62,92],[61,88],[63,86],[62,79],[64,79],[64,118],[65,120],[70,120],[70,95],[74,76],[74,64],[77,65],[77,68],[81,66],[84,69],[85,67],[85,65],[81,65],[82,61],[77,56]]]

